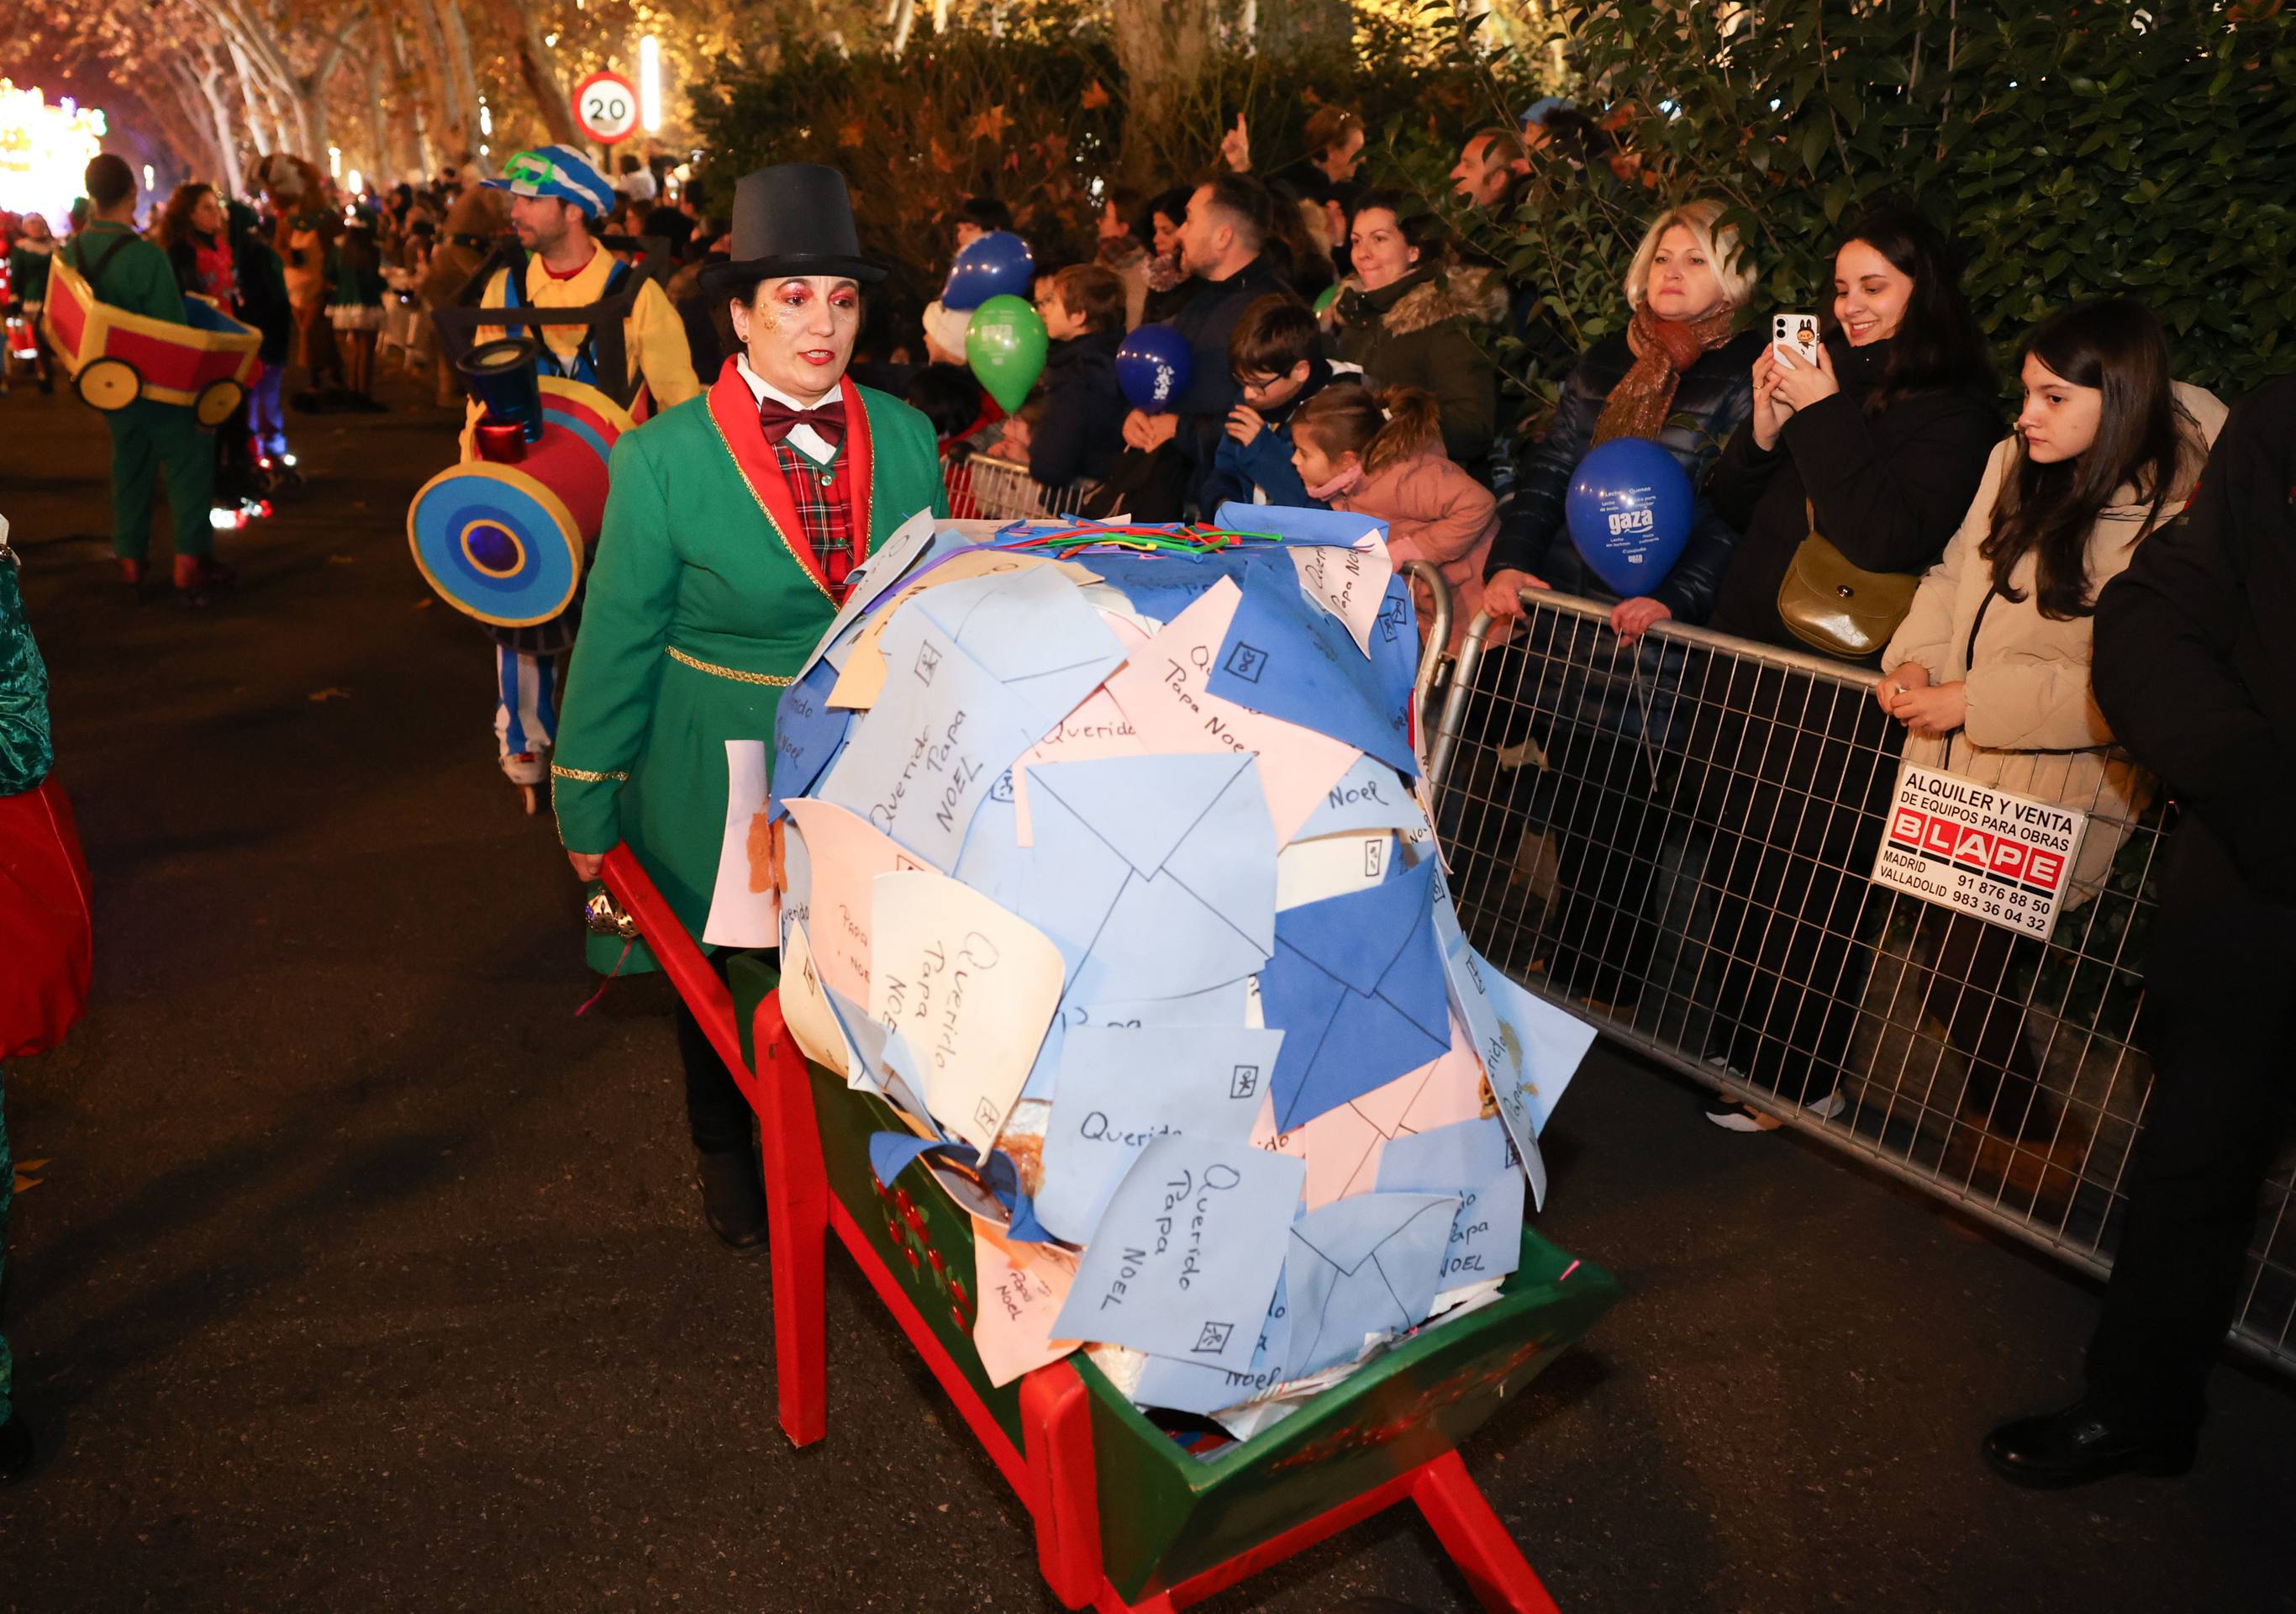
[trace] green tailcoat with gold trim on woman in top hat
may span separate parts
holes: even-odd
[[[872,445],[875,553],[918,510],[948,514],[948,491],[925,416],[870,388],[859,395]],[[746,388],[742,409],[753,411]],[[726,840],[726,742],[771,744],[781,691],[836,615],[792,544],[804,546],[804,533],[783,535],[767,519],[719,434],[709,393],[613,445],[551,804],[569,852],[627,840],[696,939]],[[590,937],[595,969],[618,962],[620,941]],[[652,967],[643,946],[629,950],[625,969]]]

